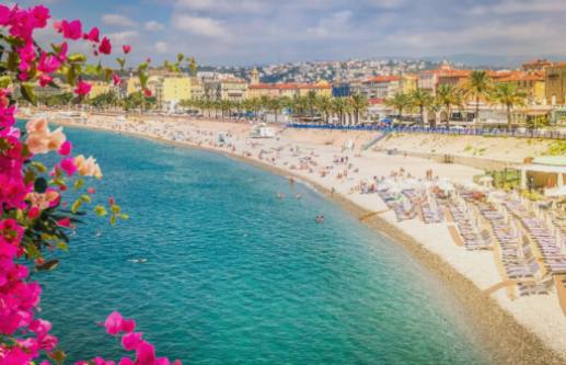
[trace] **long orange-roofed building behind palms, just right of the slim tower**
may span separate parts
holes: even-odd
[[[316,83],[257,83],[250,85],[250,88],[247,89],[247,98],[256,99],[262,96],[305,96],[311,91],[314,91],[316,95],[330,98],[332,96],[332,84],[326,81],[321,81]]]

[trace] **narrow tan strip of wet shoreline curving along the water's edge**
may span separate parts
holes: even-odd
[[[57,122],[57,124],[69,127],[118,133],[174,146],[185,148],[189,147],[207,150],[213,153],[221,153],[228,158],[261,168],[270,173],[276,173],[286,178],[292,176],[296,181],[304,183],[309,187],[317,191],[325,198],[330,198],[334,204],[337,204],[340,208],[353,214],[356,218],[360,218],[372,213],[344,194],[338,192],[332,193],[331,189],[309,179],[308,176],[294,173],[289,169],[272,166],[253,157],[246,157],[224,149],[203,146],[195,142],[175,141],[130,130],[114,130],[112,128],[60,121]],[[508,310],[501,307],[497,300],[485,294],[485,292],[471,278],[459,272],[450,262],[447,262],[439,254],[427,249],[421,242],[415,239],[414,236],[403,230],[402,227],[393,225],[379,214],[374,214],[368,219],[360,220],[379,235],[386,237],[393,244],[401,244],[432,275],[437,276],[447,285],[458,301],[466,308],[466,315],[477,323],[474,326],[474,332],[478,334],[478,338],[481,339],[480,342],[486,350],[486,353],[492,355],[489,357],[492,362],[509,364],[564,363],[564,354],[552,350],[539,335],[529,330],[525,326],[521,324]]]

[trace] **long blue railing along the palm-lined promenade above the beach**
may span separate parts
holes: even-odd
[[[566,133],[556,130],[503,130],[493,128],[426,128],[416,126],[396,126],[396,127],[383,127],[383,126],[343,126],[343,125],[319,125],[319,124],[299,124],[289,123],[288,128],[302,128],[302,129],[330,129],[330,130],[371,130],[381,132],[385,134],[390,133],[413,133],[413,134],[435,134],[435,135],[451,135],[451,136],[485,136],[485,137],[517,137],[517,138],[544,138],[544,139],[558,139],[566,140]]]

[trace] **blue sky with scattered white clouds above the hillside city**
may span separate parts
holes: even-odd
[[[16,1],[22,5],[38,3]],[[181,52],[207,65],[384,56],[556,55],[566,0],[48,0],[134,46],[136,60]],[[53,34],[47,32],[48,39]]]

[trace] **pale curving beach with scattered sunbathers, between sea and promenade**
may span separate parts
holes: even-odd
[[[415,140],[383,140],[374,148],[361,146],[376,137],[367,132],[297,130],[273,127],[275,138],[250,138],[250,123],[190,121],[161,116],[128,117],[91,115],[86,121],[50,118],[63,125],[97,128],[154,138],[226,153],[289,179],[301,180],[340,204],[365,224],[404,246],[455,293],[464,311],[477,322],[477,332],[497,363],[559,364],[566,358],[566,317],[556,290],[545,295],[510,295],[504,285],[493,250],[466,250],[454,243],[450,223],[400,220],[398,213],[377,193],[365,189],[392,179],[466,185],[483,171],[429,159],[389,155],[384,150],[405,146],[430,151]],[[221,139],[219,135],[221,135]],[[494,141],[489,141],[493,144]],[[354,146],[351,146],[351,144]],[[401,144],[401,145],[400,145]],[[465,141],[473,144],[473,141]],[[353,148],[344,148],[345,146]],[[454,142],[454,149],[465,150]],[[512,148],[512,147],[509,147]],[[541,150],[545,146],[539,147]],[[521,153],[528,153],[520,151]],[[489,156],[489,153],[487,153]],[[520,155],[520,153],[519,153]],[[506,156],[520,161],[518,156]]]

